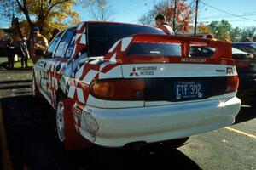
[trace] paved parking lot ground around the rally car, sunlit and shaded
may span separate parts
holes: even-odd
[[[242,105],[235,125],[192,136],[177,150],[66,152],[55,137],[54,111],[32,99],[31,79],[31,71],[0,71],[0,169],[256,169],[256,100]]]

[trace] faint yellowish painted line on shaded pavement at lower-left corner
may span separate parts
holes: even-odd
[[[12,162],[9,156],[9,150],[5,135],[5,129],[3,125],[3,114],[2,114],[2,105],[0,103],[0,150],[2,156],[3,169],[12,170]]]

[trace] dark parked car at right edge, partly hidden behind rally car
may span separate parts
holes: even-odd
[[[238,95],[247,99],[256,95],[256,57],[233,48],[233,59],[236,59],[236,69],[240,79]]]

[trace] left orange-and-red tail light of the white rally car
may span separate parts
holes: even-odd
[[[143,100],[143,79],[105,79],[90,83],[90,94],[99,99]]]

